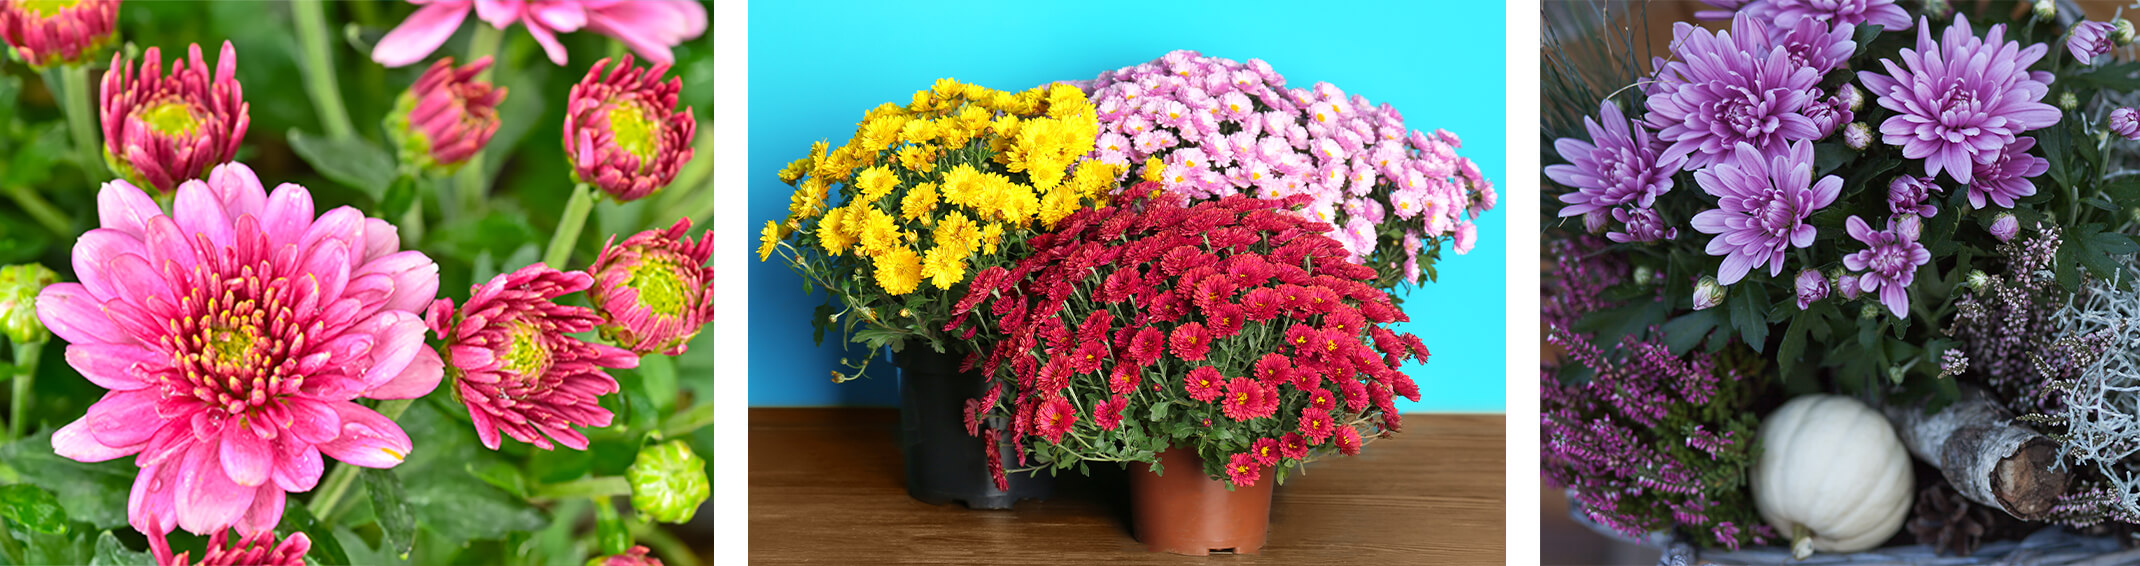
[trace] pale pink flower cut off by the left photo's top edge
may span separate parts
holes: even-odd
[[[469,9],[492,28],[522,24],[550,62],[565,64],[561,32],[588,30],[623,41],[657,62],[676,62],[670,47],[706,34],[706,6],[696,0],[409,0],[424,4],[379,39],[372,60],[404,66],[428,58],[460,30]]]

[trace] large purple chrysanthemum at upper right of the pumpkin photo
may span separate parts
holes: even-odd
[[[1902,146],[1907,159],[1924,159],[1926,176],[1947,172],[1971,182],[1971,163],[1992,161],[2022,131],[2059,122],[2059,109],[2042,103],[2052,75],[2029,73],[2048,47],[2005,41],[2005,24],[1980,39],[1967,15],[1956,15],[1932,43],[1930,19],[1922,24],[1917,49],[1902,49],[1902,66],[1883,58],[1885,75],[1860,71],[1858,79],[1894,111],[1879,126],[1881,142]]]

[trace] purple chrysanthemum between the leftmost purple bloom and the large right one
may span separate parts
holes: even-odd
[[[1701,169],[1742,142],[1780,152],[1789,142],[1819,137],[1802,111],[1821,73],[1772,49],[1759,19],[1740,13],[1729,32],[1714,34],[1682,21],[1671,34],[1673,58],[1656,71],[1646,118],[1671,144],[1665,157],[1686,157],[1684,169]]]

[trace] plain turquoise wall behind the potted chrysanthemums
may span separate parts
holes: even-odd
[[[1367,6],[1382,4],[1382,6]],[[758,2],[751,6],[751,247],[788,212],[775,178],[811,142],[854,135],[862,111],[907,101],[937,77],[999,90],[1089,79],[1106,69],[1196,49],[1263,58],[1288,86],[1329,81],[1404,111],[1417,131],[1447,129],[1462,157],[1507,184],[1504,6],[1500,2]],[[1502,206],[1530,195],[1500,195]],[[1470,255],[1447,255],[1438,283],[1404,307],[1434,352],[1408,369],[1421,386],[1404,412],[1502,412],[1507,373],[1507,210],[1479,221]],[[897,377],[832,384],[841,356],[811,343],[824,294],[775,262],[753,262],[751,405],[895,405]]]

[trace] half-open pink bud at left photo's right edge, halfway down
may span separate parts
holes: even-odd
[[[681,356],[691,337],[713,322],[713,229],[693,242],[691,219],[648,229],[601,247],[595,287],[586,289],[601,313],[601,337],[633,354]]]

